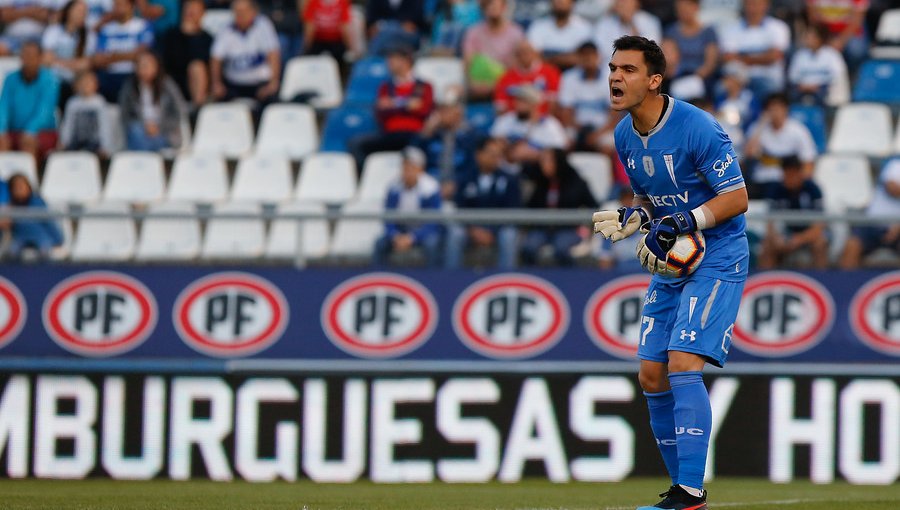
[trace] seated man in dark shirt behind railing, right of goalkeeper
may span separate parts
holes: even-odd
[[[804,173],[803,162],[791,155],[781,160],[781,167],[784,179],[772,186],[766,196],[770,210],[822,212],[822,190]],[[769,222],[758,266],[760,269],[775,269],[800,250],[808,250],[814,268],[828,267],[828,236],[823,223],[779,228],[774,222]]]

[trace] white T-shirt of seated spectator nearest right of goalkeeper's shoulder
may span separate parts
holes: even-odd
[[[788,118],[781,129],[775,130],[766,121],[758,122],[751,128],[751,137],[759,133],[762,156],[753,173],[757,183],[778,182],[782,179],[781,159],[796,155],[803,163],[816,160],[818,150],[809,129],[800,121]]]

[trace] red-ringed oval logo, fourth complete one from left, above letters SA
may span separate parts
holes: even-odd
[[[453,329],[473,351],[527,358],[553,347],[569,327],[569,304],[550,282],[501,274],[470,285],[453,306]]]

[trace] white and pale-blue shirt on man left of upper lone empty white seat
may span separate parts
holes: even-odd
[[[267,56],[277,50],[278,35],[269,18],[258,15],[246,32],[230,25],[216,35],[212,57],[222,61],[225,80],[235,85],[257,85],[272,79]]]

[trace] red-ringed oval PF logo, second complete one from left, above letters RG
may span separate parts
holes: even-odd
[[[249,273],[216,273],[181,291],[175,330],[192,349],[218,357],[248,356],[275,343],[288,323],[284,294]]]

